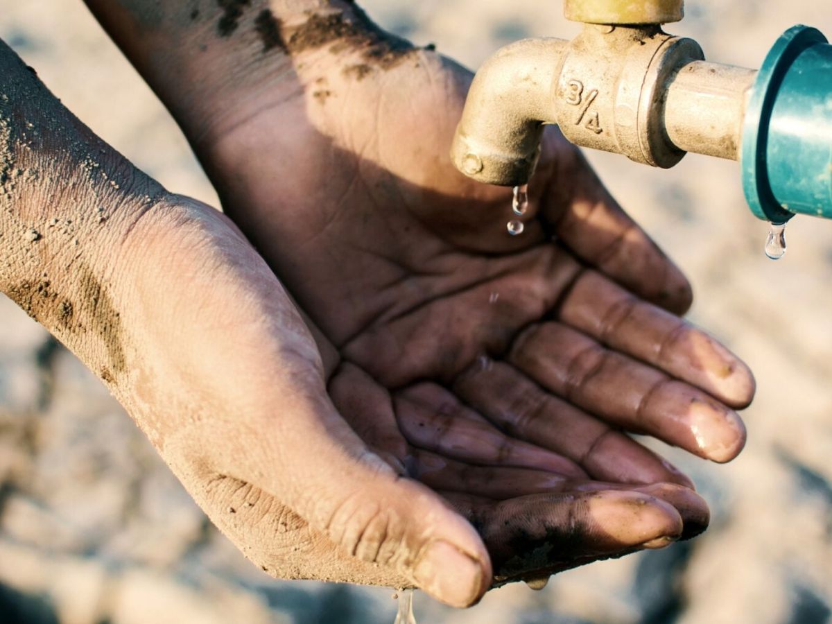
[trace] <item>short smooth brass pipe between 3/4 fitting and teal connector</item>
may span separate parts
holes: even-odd
[[[696,61],[666,86],[667,136],[681,151],[739,160],[742,125],[757,72]]]

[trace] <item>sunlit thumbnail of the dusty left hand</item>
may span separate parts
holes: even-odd
[[[448,542],[433,542],[419,557],[414,580],[451,607],[469,607],[481,592],[483,567]]]

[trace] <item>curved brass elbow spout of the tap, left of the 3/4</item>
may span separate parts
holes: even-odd
[[[543,124],[553,123],[553,90],[568,42],[524,39],[503,47],[477,72],[451,157],[474,180],[520,186],[540,156]]]

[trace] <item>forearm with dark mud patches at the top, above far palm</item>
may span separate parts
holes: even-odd
[[[413,50],[349,0],[85,1],[191,141],[256,114],[263,92],[324,94],[316,66],[333,57],[360,79]]]

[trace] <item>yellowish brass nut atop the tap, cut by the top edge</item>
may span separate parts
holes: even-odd
[[[685,17],[684,0],[565,0],[572,22],[587,24],[667,24]]]

